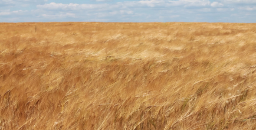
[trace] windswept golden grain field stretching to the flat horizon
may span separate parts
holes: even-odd
[[[256,23],[0,23],[0,130],[256,130]]]

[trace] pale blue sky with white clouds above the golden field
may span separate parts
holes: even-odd
[[[256,23],[256,0],[0,0],[0,22]]]

